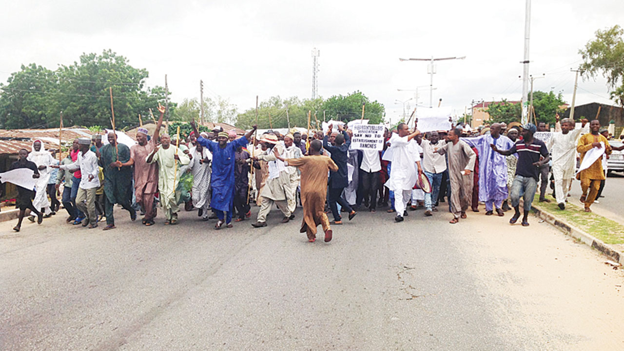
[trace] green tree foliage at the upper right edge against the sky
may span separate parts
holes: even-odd
[[[624,105],[624,29],[615,25],[595,34],[595,39],[578,50],[583,57],[583,76],[595,78],[602,72],[609,89],[613,89],[611,99]]]

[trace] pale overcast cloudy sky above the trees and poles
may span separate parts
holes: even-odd
[[[311,96],[311,50],[320,50],[319,95],[361,90],[402,113],[396,100],[429,85],[426,62],[399,57],[466,56],[443,61],[434,103],[457,114],[472,100],[519,100],[522,93],[524,0],[0,0],[0,81],[21,64],[49,69],[83,52],[112,49],[150,72],[147,84],[168,86],[172,99],[220,95],[243,111],[255,96]],[[578,49],[597,29],[622,24],[622,0],[533,1],[530,72],[535,90],[572,100]],[[605,80],[579,80],[577,104],[612,103]],[[429,104],[429,89],[419,89]],[[414,100],[408,102],[414,107]]]

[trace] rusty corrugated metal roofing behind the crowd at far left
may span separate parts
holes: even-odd
[[[71,143],[76,138],[90,137],[85,128],[63,129],[62,143]],[[55,129],[0,129],[0,154],[16,155],[22,148],[31,150],[32,142],[41,140],[47,150],[59,148],[59,130]]]

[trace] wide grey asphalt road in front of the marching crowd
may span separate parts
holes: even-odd
[[[617,350],[622,270],[531,218],[0,224],[0,350]],[[257,208],[253,213],[256,213]]]

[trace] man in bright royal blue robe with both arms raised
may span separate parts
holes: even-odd
[[[195,135],[200,135],[194,120],[191,121],[190,125]],[[238,147],[247,145],[256,128],[258,126],[253,125],[253,128],[245,134],[244,138],[238,138],[232,142],[228,142],[229,135],[227,132],[219,132],[217,142],[201,136],[197,138],[197,143],[212,152],[212,176],[210,177],[212,199],[210,200],[210,207],[215,210],[219,219],[215,229],[221,229],[223,224],[227,228],[232,228],[235,153]]]

